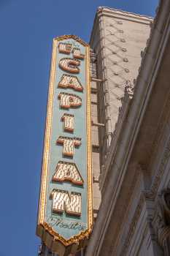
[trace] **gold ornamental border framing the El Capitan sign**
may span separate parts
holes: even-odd
[[[87,79],[87,195],[88,195],[88,228],[85,231],[82,231],[77,236],[72,236],[69,240],[66,240],[58,233],[55,233],[52,227],[47,225],[45,222],[45,207],[47,206],[47,184],[48,184],[48,164],[50,157],[50,138],[51,138],[51,128],[52,128],[52,113],[53,113],[53,97],[54,97],[54,83],[55,83],[55,70],[56,70],[56,56],[57,56],[57,42],[63,39],[75,39],[77,42],[80,42],[85,46],[86,53],[86,79]],[[91,121],[90,121],[90,46],[86,44],[82,39],[74,35],[65,35],[62,37],[56,37],[53,39],[53,53],[51,61],[51,70],[50,70],[50,84],[48,92],[48,101],[47,101],[47,118],[46,118],[46,127],[45,127],[45,142],[44,142],[44,152],[42,159],[42,179],[41,179],[41,189],[39,195],[39,217],[38,217],[38,226],[43,227],[44,232],[50,233],[53,237],[52,239],[61,241],[62,244],[68,246],[70,244],[79,243],[83,239],[88,239],[92,231],[93,226],[93,195],[92,195],[92,163],[91,163]],[[38,235],[42,238],[42,234]]]

